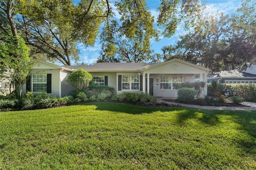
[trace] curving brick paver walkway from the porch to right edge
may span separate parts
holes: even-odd
[[[205,109],[205,110],[232,110],[232,111],[255,111],[256,110],[256,103],[252,102],[244,102],[242,103],[245,107],[217,107],[217,106],[198,106],[198,105],[189,105],[189,104],[184,104],[184,103],[174,103],[174,102],[168,102],[168,101],[163,101],[162,97],[157,98],[158,103],[166,103],[168,105],[179,105],[182,107],[190,107],[190,108],[195,108],[195,109]]]

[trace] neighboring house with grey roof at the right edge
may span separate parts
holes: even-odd
[[[220,71],[208,75],[207,83],[212,83],[212,80],[217,83],[256,83],[256,75],[237,70]]]

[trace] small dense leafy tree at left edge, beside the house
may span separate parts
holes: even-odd
[[[32,67],[29,48],[21,37],[5,36],[0,44],[1,77],[15,85],[17,98],[21,99],[22,85],[26,83]]]

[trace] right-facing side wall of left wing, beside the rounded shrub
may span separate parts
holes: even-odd
[[[61,97],[72,95],[74,87],[67,84],[66,77],[70,74],[70,71],[63,70],[60,72],[60,84],[61,84]]]

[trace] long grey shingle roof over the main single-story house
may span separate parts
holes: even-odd
[[[86,71],[136,71],[158,63],[96,63],[94,65],[64,65],[69,69],[84,69]]]

